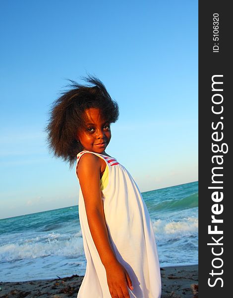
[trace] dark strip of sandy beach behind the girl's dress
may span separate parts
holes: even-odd
[[[198,297],[198,265],[161,268],[161,277],[161,298]],[[83,276],[73,275],[54,280],[0,282],[0,297],[76,298],[82,280]]]

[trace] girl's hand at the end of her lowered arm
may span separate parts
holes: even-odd
[[[118,262],[105,267],[109,291],[112,298],[129,298],[127,286],[133,290],[132,282],[126,269]]]

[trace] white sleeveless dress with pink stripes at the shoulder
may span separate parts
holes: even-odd
[[[155,235],[138,186],[113,157],[85,150],[77,154],[77,165],[80,157],[87,152],[106,162],[108,184],[101,188],[102,202],[110,243],[132,281],[134,289],[127,287],[130,298],[160,298],[161,276]],[[77,298],[111,298],[105,267],[87,222],[81,188],[78,210],[87,266]]]

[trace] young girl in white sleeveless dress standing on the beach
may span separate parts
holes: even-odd
[[[55,101],[47,127],[56,156],[70,165],[77,156],[87,259],[77,297],[159,298],[160,267],[147,207],[129,172],[106,153],[118,105],[99,79],[89,76],[86,81],[89,85],[72,82],[71,90]],[[142,146],[140,141],[135,144]],[[140,156],[135,162],[140,167]]]

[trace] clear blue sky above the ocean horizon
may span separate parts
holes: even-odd
[[[141,191],[198,180],[198,1],[0,1],[0,218],[73,206],[51,103],[87,73],[119,104],[106,150]]]

